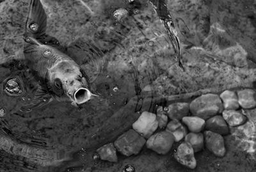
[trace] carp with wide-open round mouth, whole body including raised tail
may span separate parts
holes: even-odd
[[[47,16],[40,0],[31,0],[25,26],[23,52],[29,69],[40,82],[38,99],[50,94],[57,101],[70,101],[77,107],[96,96],[84,69],[58,48],[58,39],[46,34]]]

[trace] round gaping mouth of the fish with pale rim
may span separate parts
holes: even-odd
[[[74,101],[76,104],[83,104],[86,103],[86,101],[89,101],[92,97],[92,93],[90,90],[85,88],[79,88],[74,93]]]

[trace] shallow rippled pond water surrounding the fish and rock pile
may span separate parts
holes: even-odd
[[[253,110],[247,112],[249,134],[237,130],[225,136],[225,157],[215,157],[206,148],[196,153],[195,169],[173,158],[179,143],[166,155],[143,147],[131,157],[118,154],[118,162],[93,159],[97,148],[131,129],[143,111],[156,113],[157,106],[226,89],[253,89],[255,1],[168,1],[185,71],[147,1],[41,2],[47,34],[86,68],[99,97],[77,108],[70,102],[47,103],[51,96],[45,94],[35,103],[40,83],[26,65],[22,38],[29,1],[0,1],[0,171],[122,171],[127,165],[152,172],[256,168]],[[118,18],[117,9],[127,13]],[[10,78],[19,87],[9,83],[11,94],[6,94]],[[10,91],[16,87],[21,92]]]

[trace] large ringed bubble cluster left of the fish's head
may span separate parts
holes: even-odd
[[[24,85],[18,76],[6,78],[3,83],[4,92],[6,92],[8,96],[16,97],[23,93]]]

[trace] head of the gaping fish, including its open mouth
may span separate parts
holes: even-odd
[[[92,97],[88,76],[76,62],[61,61],[50,71],[51,90],[56,99],[68,97],[75,105],[83,104]]]

